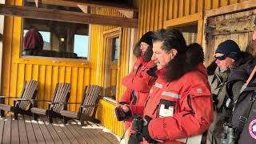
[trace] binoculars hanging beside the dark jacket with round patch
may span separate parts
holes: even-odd
[[[237,130],[234,126],[229,123],[223,125],[224,131],[222,133],[221,143],[222,144],[237,144]]]

